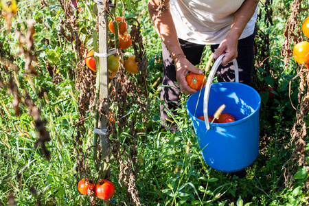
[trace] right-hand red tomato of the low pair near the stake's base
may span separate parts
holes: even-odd
[[[111,181],[102,179],[95,185],[95,195],[102,200],[111,198],[115,193],[115,186]]]

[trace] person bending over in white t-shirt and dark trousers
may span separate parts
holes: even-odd
[[[219,82],[233,81],[231,60],[237,58],[240,82],[251,84],[258,0],[148,0],[148,10],[162,40],[163,128],[176,130],[168,119],[179,108],[181,92],[196,93],[185,76],[189,71],[203,73],[194,65],[200,63],[205,45],[211,46],[215,59],[225,54],[218,68]]]

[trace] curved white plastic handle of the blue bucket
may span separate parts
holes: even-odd
[[[208,122],[208,99],[209,99],[209,91],[210,91],[210,87],[211,87],[211,83],[212,80],[214,79],[214,75],[220,65],[220,63],[222,62],[222,58],[225,56],[225,54],[221,54],[216,62],[214,62],[214,65],[211,68],[211,71],[209,72],[209,76],[207,78],[207,82],[206,82],[206,86],[205,86],[205,93],[204,93],[204,117],[205,117],[205,124],[206,124],[206,128],[207,130],[209,130],[210,125]],[[238,63],[236,58],[234,58],[232,60],[233,65],[234,65],[234,69],[235,69],[235,82],[239,82],[239,74],[238,74]]]

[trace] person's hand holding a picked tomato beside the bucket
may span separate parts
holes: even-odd
[[[190,63],[187,58],[176,58],[174,60],[175,67],[176,67],[176,80],[179,83],[179,89],[182,93],[192,94],[196,93],[195,89],[192,89],[187,84],[187,80],[185,80],[185,76],[187,76],[187,73],[189,71],[192,71],[194,73],[204,73],[203,70],[198,69],[198,67],[195,67]]]

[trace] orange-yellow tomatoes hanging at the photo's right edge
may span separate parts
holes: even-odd
[[[304,20],[301,30],[309,38],[309,17]],[[293,48],[293,57],[297,63],[309,68],[309,42],[302,41],[297,43]]]

